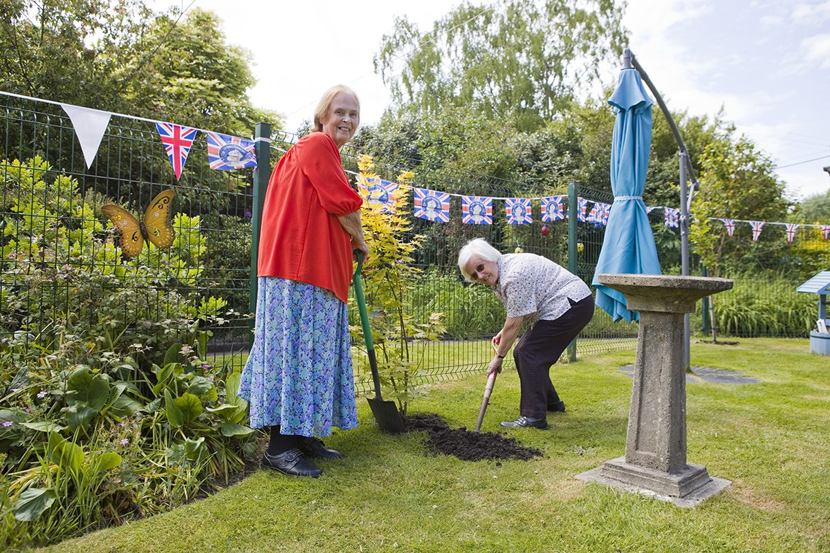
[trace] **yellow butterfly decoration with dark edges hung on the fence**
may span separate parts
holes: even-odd
[[[144,248],[144,240],[164,250],[173,245],[176,231],[170,224],[170,204],[175,195],[172,190],[165,190],[155,196],[144,211],[144,221],[139,221],[122,207],[113,204],[101,206],[101,213],[121,232],[120,245],[124,255],[129,258],[139,255]]]

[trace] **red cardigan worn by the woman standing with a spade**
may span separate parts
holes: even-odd
[[[277,163],[268,182],[259,241],[259,276],[314,284],[349,301],[352,246],[338,221],[363,199],[349,186],[334,140],[310,133]]]

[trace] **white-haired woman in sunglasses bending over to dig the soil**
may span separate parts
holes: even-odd
[[[535,254],[502,254],[483,238],[461,248],[458,268],[467,282],[490,286],[507,311],[487,376],[501,371],[522,323],[530,321],[530,330],[513,350],[521,382],[520,417],[501,425],[547,428],[547,411],[565,410],[550,381],[550,367],[593,317],[591,290],[551,260]]]

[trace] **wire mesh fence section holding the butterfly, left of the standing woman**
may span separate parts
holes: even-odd
[[[88,351],[142,352],[205,331],[212,360],[238,364],[232,352],[248,335],[251,171],[212,171],[202,137],[177,180],[154,124],[117,115],[86,167],[59,106],[0,101],[3,347],[59,351],[82,337]],[[163,191],[174,193],[172,246],[137,233],[138,255],[122,255],[101,206],[150,224],[146,210]]]

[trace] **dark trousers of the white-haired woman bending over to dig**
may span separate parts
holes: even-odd
[[[513,359],[521,382],[519,413],[525,417],[544,419],[548,405],[559,401],[550,367],[568,344],[593,317],[593,296],[568,300],[571,308],[554,321],[536,321],[513,349]]]

